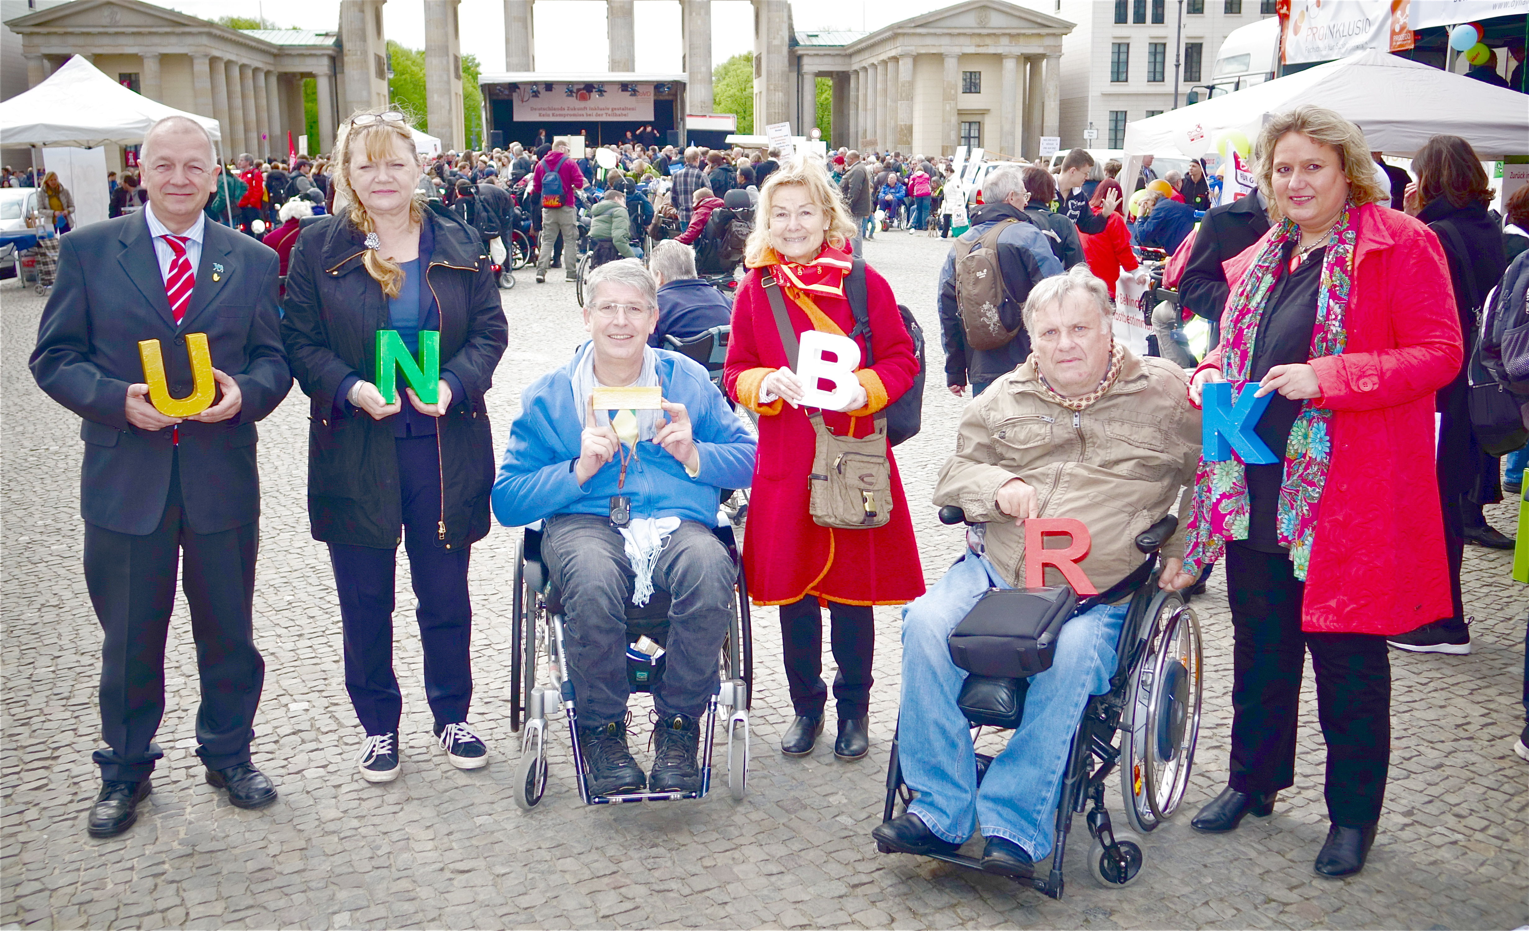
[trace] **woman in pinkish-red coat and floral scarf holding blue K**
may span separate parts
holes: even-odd
[[[1434,391],[1460,368],[1460,323],[1439,240],[1381,206],[1367,148],[1313,105],[1263,128],[1258,183],[1283,219],[1226,263],[1222,345],[1190,394],[1258,382],[1272,397],[1254,431],[1277,462],[1200,463],[1176,581],[1223,561],[1234,633],[1231,780],[1191,824],[1234,830],[1294,784],[1310,650],[1332,821],[1315,870],[1330,877],[1364,867],[1385,798],[1385,636],[1449,611]]]

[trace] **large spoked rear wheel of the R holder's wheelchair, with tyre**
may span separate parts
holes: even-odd
[[[1177,592],[1159,593],[1151,604],[1142,659],[1131,671],[1121,720],[1121,801],[1127,822],[1144,835],[1170,818],[1183,798],[1200,720],[1200,628],[1194,611]],[[1183,660],[1174,662],[1180,647]]]

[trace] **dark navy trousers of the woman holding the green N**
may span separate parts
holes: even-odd
[[[440,520],[440,459],[436,437],[394,440],[399,492],[404,498],[404,550],[419,608],[425,653],[425,699],[436,728],[468,720],[472,700],[472,604],[468,601],[468,553],[448,550],[436,538]],[[346,631],[346,691],[367,735],[391,734],[404,715],[404,696],[393,673],[393,587],[398,550],[330,543]]]

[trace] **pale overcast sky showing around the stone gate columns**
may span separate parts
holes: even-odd
[[[156,2],[156,0],[150,0]],[[157,0],[194,17],[214,20],[229,12],[226,0]],[[939,3],[939,0],[934,0]],[[339,0],[246,0],[240,15],[261,12],[278,26],[335,29]],[[917,0],[792,0],[797,29],[881,29],[928,12]],[[505,69],[505,5],[502,0],[462,0],[462,50],[477,55],[483,70]],[[537,0],[537,70],[605,70],[605,5],[601,0]],[[425,12],[419,0],[391,0],[382,8],[387,37],[414,49],[425,47]],[[680,73],[679,3],[636,0],[638,70]],[[722,64],[754,49],[754,14],[748,0],[713,0],[711,63]]]

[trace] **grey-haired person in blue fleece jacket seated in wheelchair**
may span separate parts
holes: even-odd
[[[754,469],[754,437],[706,368],[647,345],[656,290],[635,258],[590,274],[590,341],[521,394],[494,482],[500,523],[546,521],[541,555],[567,616],[592,796],[700,787],[697,719],[717,691],[737,576],[711,527],[720,489],[746,486]],[[596,410],[596,399],[621,407]],[[654,592],[671,607],[645,777],[627,751],[627,610]]]

